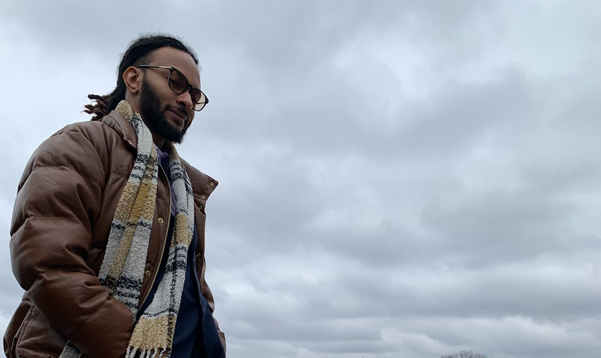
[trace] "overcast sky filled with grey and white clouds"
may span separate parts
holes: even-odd
[[[601,2],[0,7],[0,331],[25,163],[165,31],[210,98],[179,151],[220,183],[228,357],[599,357]]]

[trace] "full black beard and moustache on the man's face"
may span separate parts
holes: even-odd
[[[186,115],[186,121],[182,130],[177,129],[165,117],[165,112],[169,109],[180,112]],[[142,88],[140,93],[140,115],[144,118],[146,125],[151,132],[165,138],[169,142],[180,144],[186,136],[186,131],[190,124],[188,123],[188,113],[174,106],[166,106],[160,109],[159,96],[156,91],[150,86],[146,79],[142,80]]]

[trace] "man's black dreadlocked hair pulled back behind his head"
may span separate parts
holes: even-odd
[[[198,65],[198,58],[194,50],[186,46],[182,41],[178,40],[171,35],[166,34],[146,34],[133,40],[126,52],[121,55],[121,62],[117,72],[117,86],[115,89],[105,96],[98,96],[97,94],[88,94],[88,99],[96,101],[95,105],[85,105],[84,112],[87,114],[93,114],[93,121],[100,120],[105,115],[109,114],[112,110],[117,108],[117,105],[121,100],[125,99],[126,85],[123,80],[123,73],[130,66],[136,66],[144,62],[148,62],[154,50],[160,49],[161,47],[174,47],[175,49],[187,52],[195,64]]]

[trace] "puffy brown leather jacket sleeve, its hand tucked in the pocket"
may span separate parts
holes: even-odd
[[[85,357],[118,358],[133,316],[86,263],[108,170],[99,156],[105,140],[88,136],[58,133],[29,160],[14,205],[11,264],[35,307]]]

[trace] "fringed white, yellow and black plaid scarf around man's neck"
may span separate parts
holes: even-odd
[[[126,101],[115,109],[132,125],[138,136],[138,153],[129,180],[117,204],[111,223],[105,258],[100,267],[100,284],[109,294],[138,316],[138,302],[144,279],[148,241],[156,205],[158,180],[157,154],[150,130]],[[175,225],[165,273],[153,300],[133,327],[126,358],[169,357],[175,322],[182,302],[186,278],[188,247],[194,230],[194,196],[192,184],[171,142],[169,171],[175,195]],[[81,357],[79,350],[67,342],[60,358]]]

